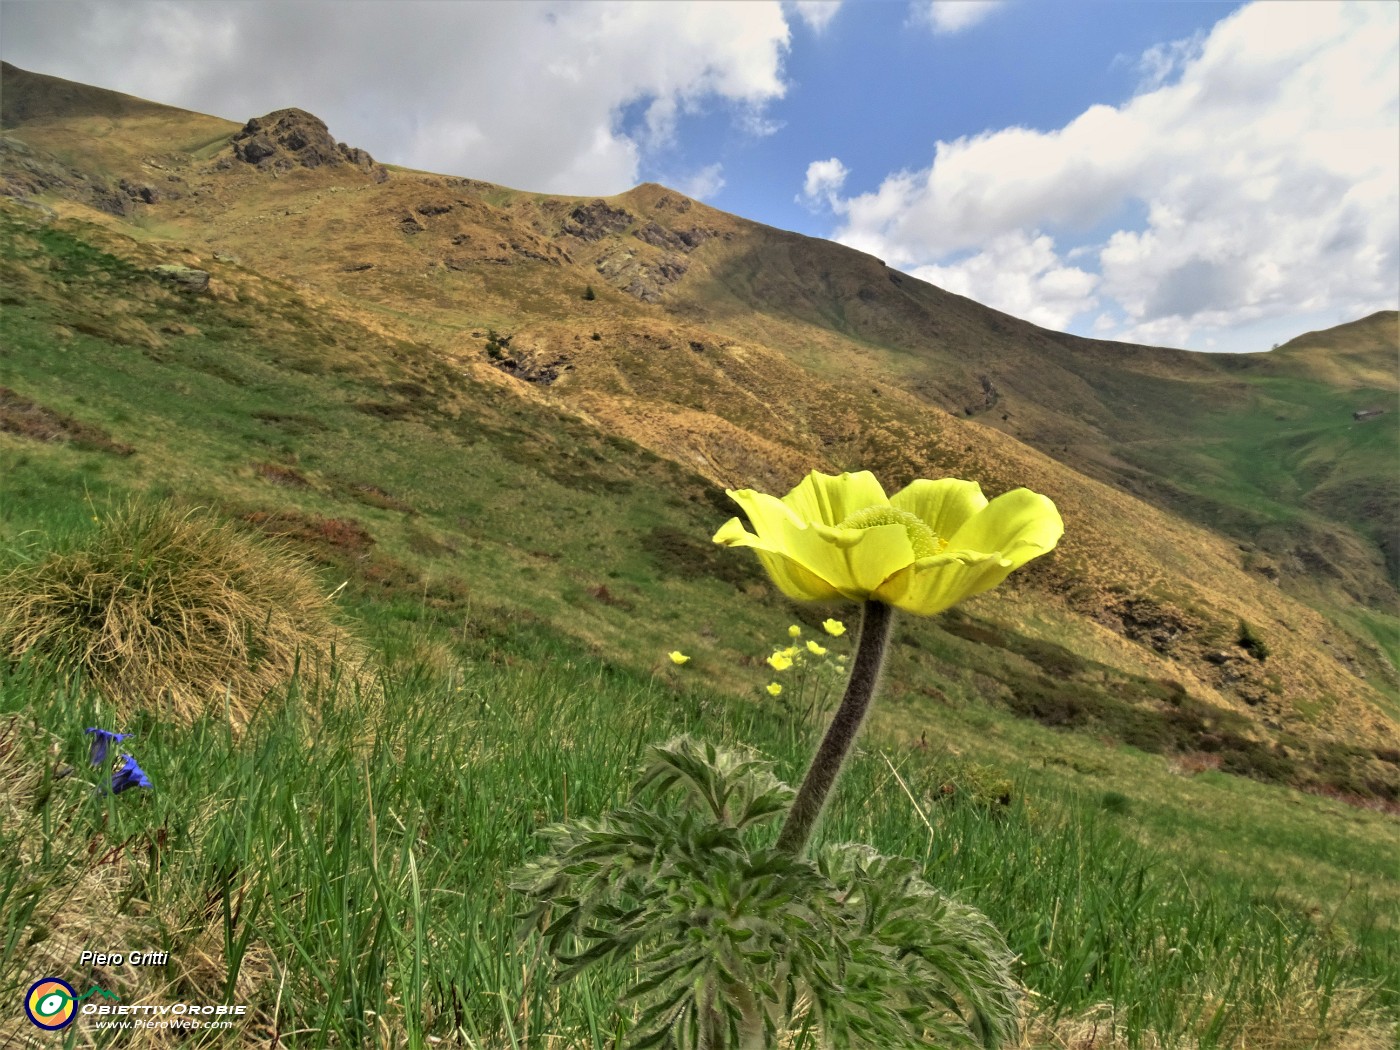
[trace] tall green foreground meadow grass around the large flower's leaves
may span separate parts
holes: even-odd
[[[111,706],[7,671],[3,994],[38,970],[77,983],[78,951],[119,942],[171,963],[83,981],[245,1002],[245,1044],[612,1046],[624,974],[552,987],[511,872],[543,825],[622,801],[651,742],[746,745],[795,778],[813,724],[504,617],[486,637],[378,627],[377,682],[274,690],[242,735],[217,706],[125,721],[154,785],[119,797],[85,769]],[[1035,748],[1004,715],[941,734],[959,746],[871,734],[823,833],[923,861],[993,918],[1021,956],[1025,1046],[1386,1046],[1393,823],[1224,776],[1156,794],[1158,760],[1092,742],[1007,760]]]

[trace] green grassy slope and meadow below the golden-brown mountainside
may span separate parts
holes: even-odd
[[[0,655],[0,1001],[52,973],[248,1005],[199,1044],[619,1044],[627,974],[552,986],[511,874],[680,732],[795,781],[820,725],[764,693],[763,658],[850,610],[777,598],[710,543],[713,486],[629,441],[290,286],[189,297],[154,249],[6,214],[0,574],[99,546],[130,500],[209,508],[298,552],[354,645],[308,640],[246,713]],[[1225,715],[1203,750],[1149,664],[1036,616],[1011,585],[902,622],[820,834],[991,917],[1026,1047],[1394,1046],[1394,815],[1288,787]],[[150,790],[97,791],[92,725],[134,734]],[[115,945],[169,962],[80,972]],[[176,1042],[85,1025],[67,1044]],[[34,1035],[11,1011],[0,1039]]]

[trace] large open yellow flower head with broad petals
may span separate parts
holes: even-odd
[[[783,498],[729,490],[753,526],[731,518],[714,542],[753,547],[778,589],[805,601],[876,601],[932,616],[990,591],[1054,549],[1064,522],[1029,489],[987,501],[976,482],[911,482],[886,496],[869,470],[813,470]]]

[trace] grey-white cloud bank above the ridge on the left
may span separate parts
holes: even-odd
[[[790,41],[778,0],[7,0],[4,28],[25,69],[231,119],[301,106],[379,158],[560,193],[627,189],[710,102],[763,130]]]

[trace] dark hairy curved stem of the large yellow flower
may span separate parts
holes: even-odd
[[[871,700],[875,697],[893,623],[895,610],[890,606],[883,602],[865,602],[861,637],[855,644],[855,661],[851,665],[851,678],[846,683],[846,694],[832,717],[822,746],[816,749],[816,757],[802,778],[802,787],[798,788],[788,819],[778,834],[777,848],[792,857],[802,855],[806,848],[806,841],[812,837],[816,820],[826,806],[826,797],[832,792],[841,764],[861,731],[861,722],[865,721],[865,713],[869,711]]]

